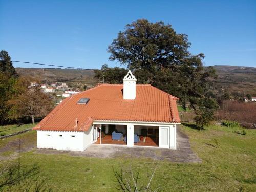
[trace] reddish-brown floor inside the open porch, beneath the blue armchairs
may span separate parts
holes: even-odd
[[[95,142],[94,144],[100,144],[100,138],[98,138],[98,141]],[[124,141],[118,141],[118,140],[112,140],[111,135],[106,135],[101,139],[101,144],[115,144],[115,145],[126,145]],[[151,137],[146,137],[145,142],[138,142],[134,143],[134,145],[137,146],[158,146],[157,142],[155,139]]]

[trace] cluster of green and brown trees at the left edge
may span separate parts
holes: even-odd
[[[53,108],[50,97],[37,88],[28,88],[30,80],[20,77],[7,51],[0,51],[0,125],[30,117],[44,117]]]

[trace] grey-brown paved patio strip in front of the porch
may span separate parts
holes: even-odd
[[[122,145],[100,145],[92,144],[84,152],[69,152],[74,156],[86,156],[96,158],[117,158],[117,157],[135,157],[151,158],[155,160],[167,160],[171,162],[196,162],[202,160],[195,154],[190,147],[189,138],[180,129],[177,129],[177,150],[169,150],[157,147],[127,147]]]

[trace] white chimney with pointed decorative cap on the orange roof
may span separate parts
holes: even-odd
[[[137,79],[132,74],[131,70],[123,78],[123,99],[136,98],[136,81]]]

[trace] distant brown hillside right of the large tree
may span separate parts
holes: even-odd
[[[214,80],[217,89],[256,96],[256,68],[217,65],[213,67],[218,75]]]

